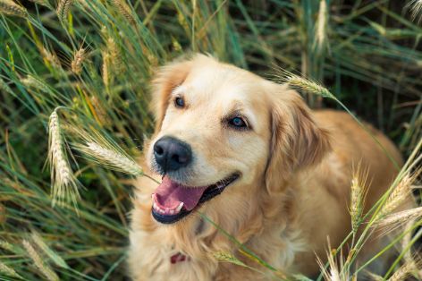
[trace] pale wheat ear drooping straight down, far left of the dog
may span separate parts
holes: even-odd
[[[80,198],[78,183],[64,152],[64,140],[59,116],[57,115],[59,108],[55,108],[55,111],[50,115],[48,124],[48,160],[53,185],[53,206],[55,203],[63,205],[66,200],[69,200],[76,207],[77,199]]]

